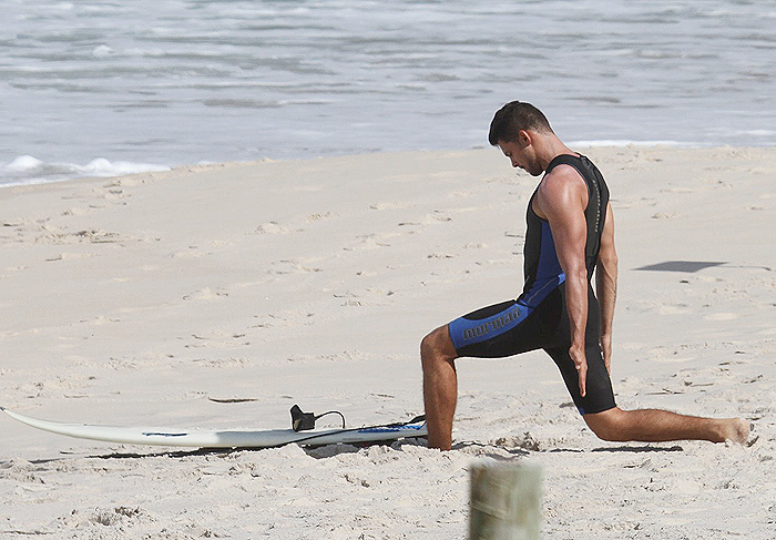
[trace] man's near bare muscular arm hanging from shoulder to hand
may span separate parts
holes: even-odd
[[[569,355],[580,377],[580,394],[586,394],[588,359],[584,334],[588,325],[588,269],[584,248],[588,225],[584,208],[588,187],[571,166],[557,166],[539,186],[534,212],[550,223],[558,261],[565,274],[565,303],[571,324]]]

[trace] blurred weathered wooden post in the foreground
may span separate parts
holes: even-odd
[[[469,540],[539,540],[541,468],[472,465]]]

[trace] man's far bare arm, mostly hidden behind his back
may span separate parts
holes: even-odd
[[[617,296],[617,252],[614,248],[614,215],[611,204],[606,206],[601,235],[601,248],[595,268],[595,293],[601,307],[601,349],[606,370],[611,374],[612,325]]]

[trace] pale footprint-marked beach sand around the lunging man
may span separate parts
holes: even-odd
[[[0,538],[464,539],[468,468],[493,459],[542,467],[543,538],[773,539],[776,149],[585,153],[615,212],[619,405],[742,416],[748,446],[603,442],[542,353],[459,360],[449,452],[204,454],[2,415]],[[519,294],[534,185],[480,149],[0,190],[0,405],[181,428],[285,428],[294,404],[409,419],[422,336]]]

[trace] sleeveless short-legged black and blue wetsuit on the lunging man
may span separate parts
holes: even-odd
[[[464,315],[448,325],[458,356],[500,358],[543,349],[555,361],[580,414],[601,412],[615,406],[612,384],[599,345],[599,303],[590,279],[598,262],[609,189],[601,172],[585,156],[562,154],[550,162],[545,175],[560,164],[573,166],[588,184],[585,208],[588,240],[588,357],[586,396],[579,389],[579,375],[569,356],[571,326],[565,307],[565,274],[561,268],[550,224],[533,212],[534,192],[528,203],[524,248],[525,285],[514,300],[502,302]]]

